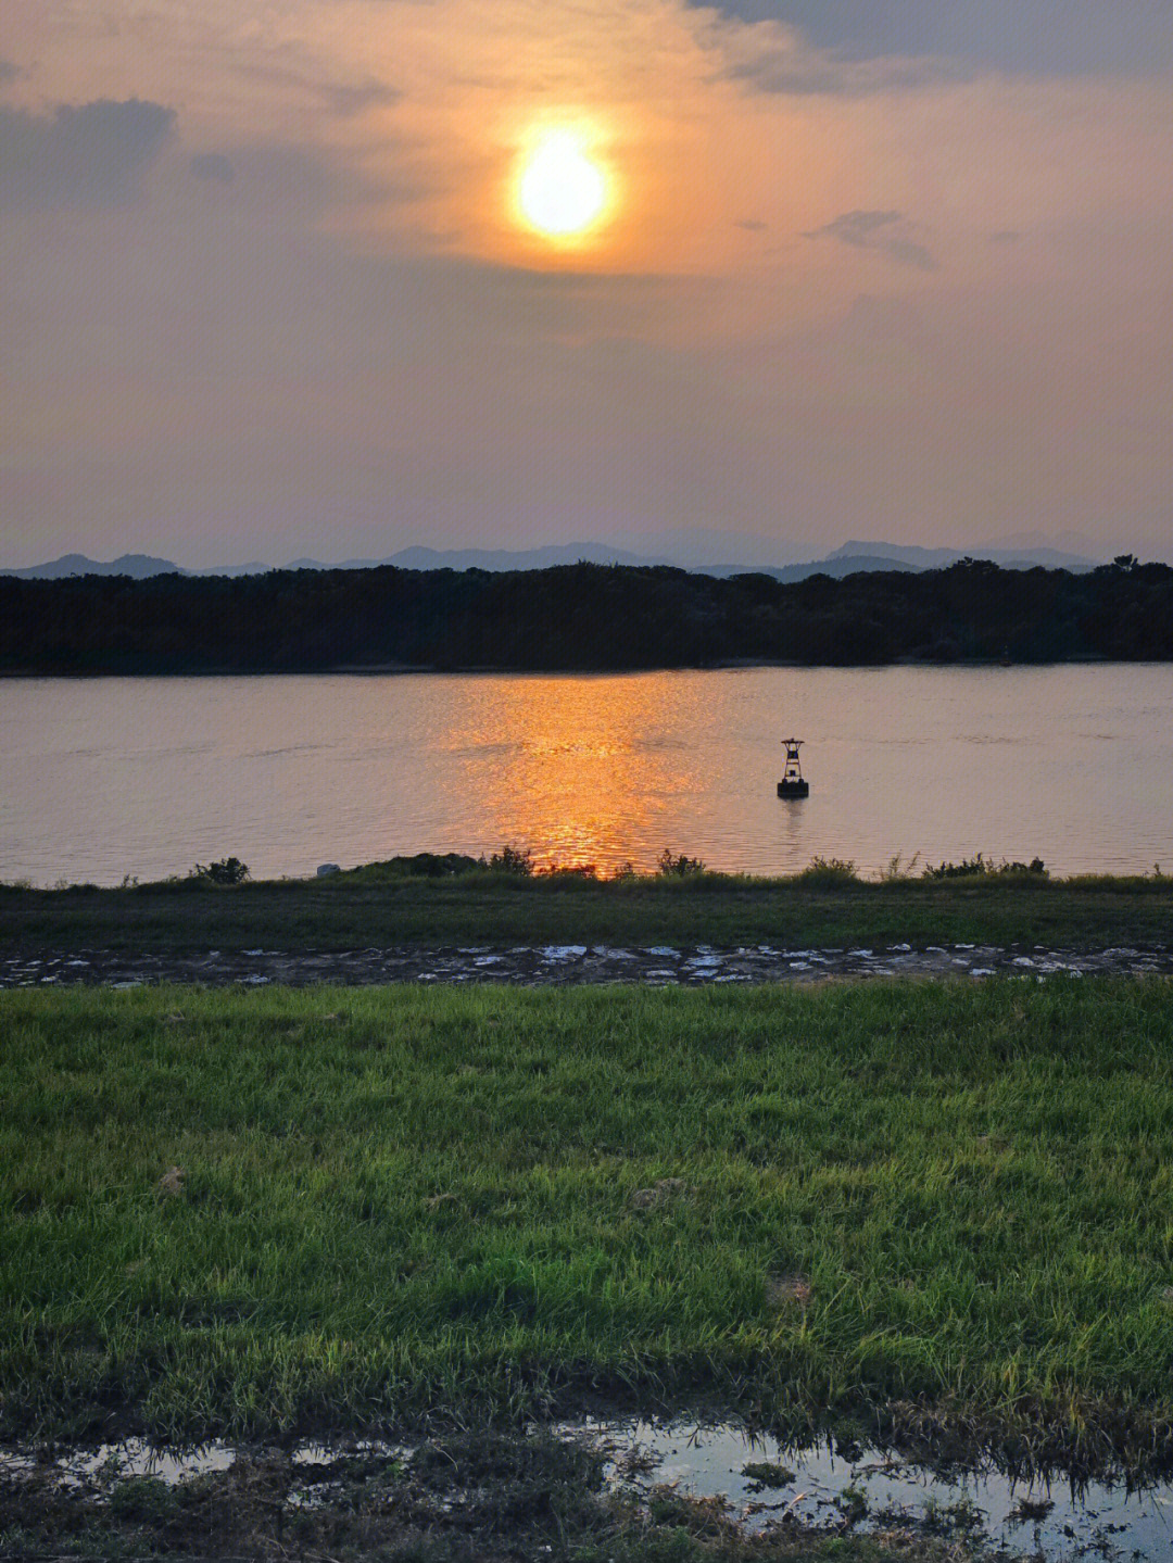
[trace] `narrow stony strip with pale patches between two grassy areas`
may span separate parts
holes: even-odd
[[[717,983],[825,982],[828,978],[936,977],[1090,977],[1173,975],[1168,946],[1098,950],[1043,944],[889,944],[876,949],[783,949],[770,944],[715,949],[693,946],[417,946],[355,950],[201,950],[191,955],[125,955],[108,950],[53,950],[0,958],[0,988],[147,983],[233,983],[264,986],[311,983],[348,986],[395,982],[511,983],[550,988],[584,983],[644,983],[700,988]]]

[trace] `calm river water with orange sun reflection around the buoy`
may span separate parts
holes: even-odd
[[[1173,666],[0,681],[0,877],[256,877],[400,852],[670,847],[1173,866]],[[779,739],[811,797],[781,802]]]

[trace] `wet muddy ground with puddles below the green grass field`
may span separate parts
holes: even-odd
[[[795,1447],[737,1422],[686,1418],[583,1418],[397,1444],[0,1449],[0,1500],[9,1518],[0,1557],[198,1550],[512,1563],[622,1554],[793,1563],[829,1547],[904,1563],[1173,1555],[1168,1483],[1017,1480],[989,1463],[940,1471],[892,1450]],[[708,1546],[686,1550],[687,1533]],[[836,1540],[848,1533],[887,1546],[848,1552]],[[729,1550],[712,1546],[722,1536]]]

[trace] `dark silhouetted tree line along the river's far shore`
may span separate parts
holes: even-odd
[[[1173,658],[1173,569],[717,580],[676,569],[0,577],[0,672],[636,669]]]

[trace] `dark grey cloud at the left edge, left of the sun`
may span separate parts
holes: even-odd
[[[0,208],[78,211],[134,199],[175,125],[162,103],[98,98],[52,114],[0,108]]]

